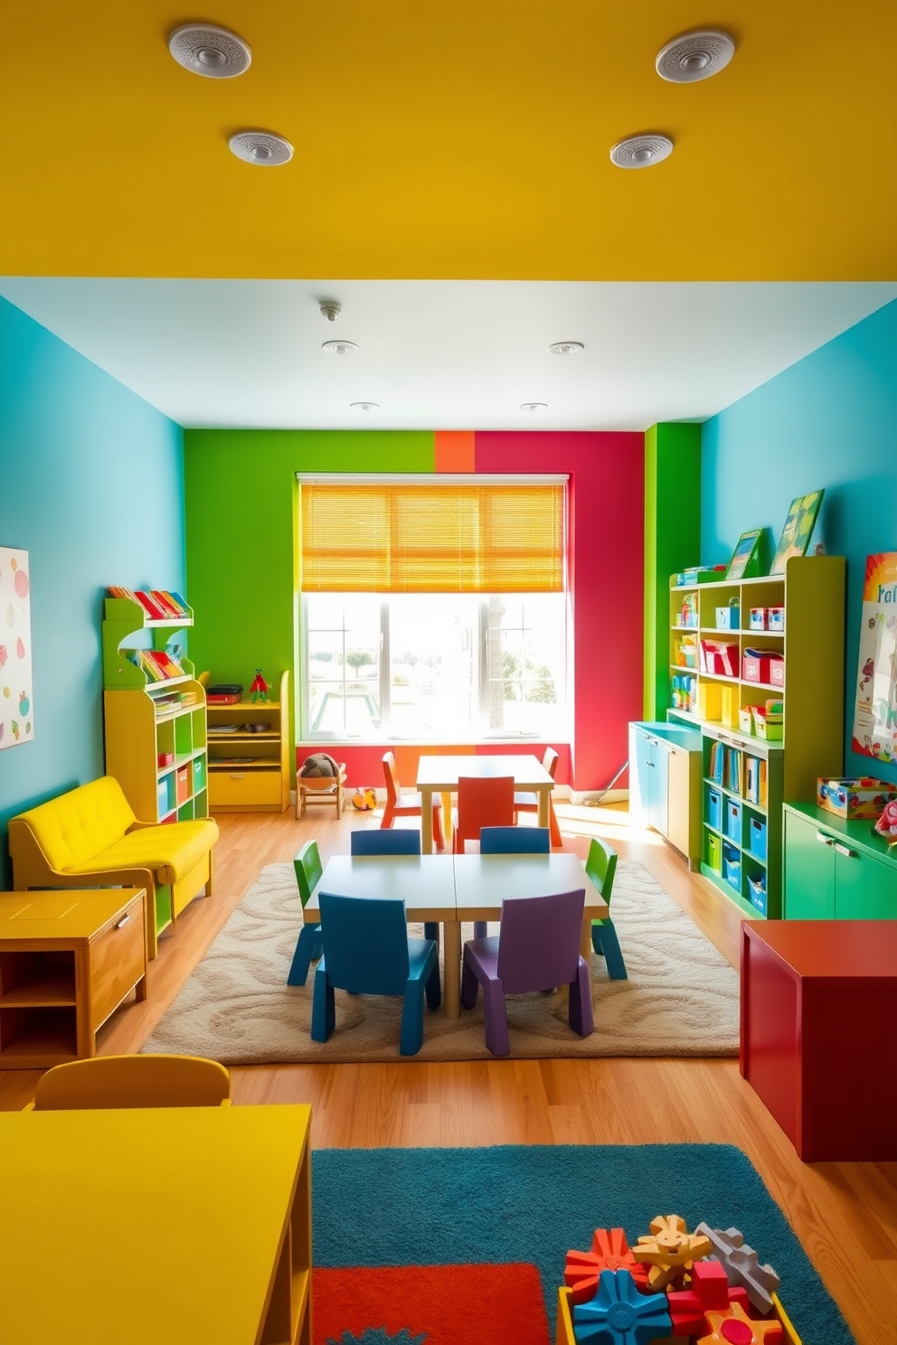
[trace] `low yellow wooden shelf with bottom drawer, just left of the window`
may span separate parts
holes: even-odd
[[[268,724],[249,733],[249,724]],[[222,732],[235,725],[235,732]],[[289,807],[289,672],[277,701],[208,706],[208,794],[212,812],[285,812]]]

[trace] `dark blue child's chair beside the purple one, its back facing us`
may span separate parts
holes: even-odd
[[[327,1041],[336,1026],[334,990],[403,995],[399,1053],[416,1056],[424,1045],[424,995],[430,1009],[442,1002],[438,944],[407,937],[402,900],[321,892],[319,901],[324,956],[315,972],[312,1041]]]

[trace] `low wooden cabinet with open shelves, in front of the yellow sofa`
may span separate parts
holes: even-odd
[[[93,1056],[130,990],[147,998],[143,888],[0,893],[0,1069]]]

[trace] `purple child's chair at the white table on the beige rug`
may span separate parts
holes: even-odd
[[[511,897],[502,905],[498,937],[464,944],[461,1003],[476,1005],[483,986],[485,1045],[510,1056],[506,995],[570,987],[569,1021],[580,1037],[594,1029],[589,968],[580,956],[585,889],[549,897]]]

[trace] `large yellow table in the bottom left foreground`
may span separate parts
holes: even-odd
[[[0,1345],[311,1345],[309,1120],[0,1114]]]

